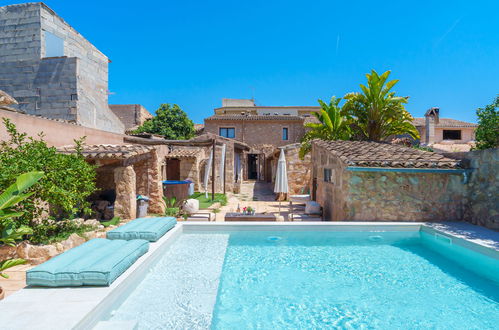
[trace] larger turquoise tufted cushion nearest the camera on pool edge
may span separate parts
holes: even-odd
[[[32,286],[110,285],[149,250],[144,240],[92,239],[26,272]]]

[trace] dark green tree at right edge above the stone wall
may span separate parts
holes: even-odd
[[[499,96],[485,108],[478,108],[478,127],[475,131],[476,146],[473,149],[483,150],[499,147]]]

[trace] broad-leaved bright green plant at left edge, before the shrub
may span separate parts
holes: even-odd
[[[34,185],[43,177],[43,172],[29,172],[17,177],[16,182],[10,185],[0,195],[0,244],[15,246],[16,241],[21,240],[24,235],[29,235],[33,231],[27,226],[15,226],[13,218],[23,215],[14,209],[17,203],[25,200],[31,194],[23,192]],[[24,259],[0,260],[0,276],[9,278],[3,273],[4,270],[26,263]],[[5,292],[0,287],[0,300],[5,296]]]

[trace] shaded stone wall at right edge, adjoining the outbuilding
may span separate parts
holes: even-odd
[[[471,170],[466,185],[464,220],[499,230],[499,148],[445,156],[463,160],[464,166]]]

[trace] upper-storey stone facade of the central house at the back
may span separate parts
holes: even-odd
[[[204,131],[218,135],[220,127],[235,128],[235,139],[250,146],[285,146],[299,142],[305,134],[302,120],[206,120]],[[284,127],[288,128],[288,140],[282,139]]]

